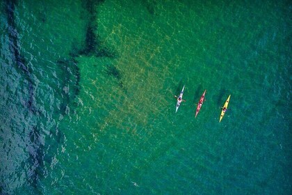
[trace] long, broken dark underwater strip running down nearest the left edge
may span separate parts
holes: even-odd
[[[15,24],[15,6],[17,4],[16,0],[6,0],[4,2],[5,12],[8,22],[8,38],[9,38],[9,49],[12,54],[12,60],[15,63],[15,70],[19,72],[19,74],[23,75],[24,83],[26,84],[28,91],[28,98],[25,103],[25,107],[28,111],[33,114],[37,114],[37,109],[35,108],[35,85],[33,84],[33,77],[31,76],[31,72],[29,71],[29,67],[27,66],[26,60],[24,56],[22,56],[20,52],[20,42],[19,35],[17,32],[17,25]],[[29,138],[31,144],[29,147],[29,169],[26,168],[26,174],[29,176],[29,183],[32,187],[37,189],[38,180],[40,176],[42,176],[42,164],[43,164],[43,156],[44,156],[44,148],[42,146],[42,142],[40,141],[40,129],[37,126],[31,127],[28,129]]]

